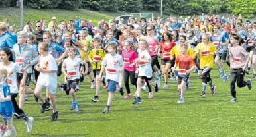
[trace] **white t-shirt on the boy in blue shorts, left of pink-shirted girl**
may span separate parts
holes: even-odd
[[[123,58],[121,55],[116,54],[112,56],[111,54],[105,55],[101,61],[102,65],[107,65],[106,67],[106,78],[107,80],[113,80],[119,82],[120,69],[123,66]]]

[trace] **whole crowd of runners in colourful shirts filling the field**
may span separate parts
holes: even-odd
[[[86,90],[79,88],[83,82],[96,90],[91,98],[94,102],[100,100],[100,90],[107,89],[103,113],[109,113],[114,92],[125,94],[124,99],[134,96],[131,103],[141,104],[141,90],[148,91],[152,99],[153,90],[168,90],[169,80],[177,81],[177,103],[184,103],[192,72],[202,79],[199,95],[206,97],[207,84],[214,95],[216,85],[210,72],[215,65],[224,83],[230,78],[230,102],[237,101],[235,83],[251,90],[251,80],[244,80],[251,67],[256,79],[256,22],[241,16],[202,14],[168,16],[166,20],[132,16],[128,24],[115,18],[95,23],[76,16],[58,24],[52,17],[48,24],[42,19],[28,21],[16,31],[7,18],[0,22],[0,115],[5,121],[0,124],[0,136],[17,136],[13,116],[23,119],[31,132],[34,118],[23,111],[27,94],[34,94],[36,102],[40,100],[40,113],[52,108],[50,120],[56,121],[57,88],[72,95],[70,110],[78,112],[76,91]],[[224,69],[225,63],[230,69]],[[164,81],[162,86],[160,80]],[[131,85],[136,91],[130,90]],[[42,95],[44,89],[46,96]],[[15,99],[18,95],[19,103]]]

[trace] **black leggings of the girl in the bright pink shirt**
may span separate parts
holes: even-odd
[[[126,88],[127,94],[130,94],[131,91],[129,86],[129,77],[130,77],[131,84],[135,85],[135,87],[137,88],[137,84],[136,84],[137,78],[135,77],[135,72],[124,70],[123,77],[125,81],[125,88]]]

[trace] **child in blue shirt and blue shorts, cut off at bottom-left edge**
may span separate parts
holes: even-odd
[[[0,69],[0,115],[7,125],[0,123],[0,136],[10,136],[13,134],[14,137],[17,136],[15,127],[13,126],[13,103],[11,102],[11,92],[10,87],[7,84],[7,70]],[[11,132],[9,132],[11,130]],[[11,134],[10,134],[11,133]]]

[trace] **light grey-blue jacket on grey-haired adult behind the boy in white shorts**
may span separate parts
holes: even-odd
[[[16,43],[13,45],[13,51],[15,53],[15,63],[19,64],[27,73],[32,73],[32,66],[38,62],[38,53],[34,47],[28,44],[22,46]]]

